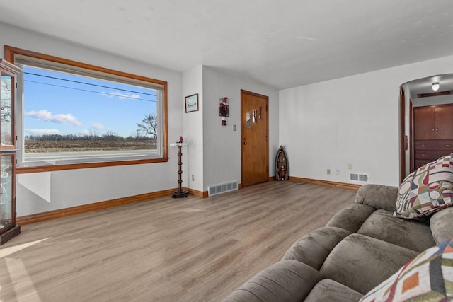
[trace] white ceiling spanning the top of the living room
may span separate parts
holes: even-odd
[[[279,89],[453,54],[452,0],[16,0],[0,21]]]

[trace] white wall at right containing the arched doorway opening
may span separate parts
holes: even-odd
[[[290,175],[349,182],[352,163],[372,183],[398,185],[399,86],[452,71],[453,57],[445,57],[280,91]]]

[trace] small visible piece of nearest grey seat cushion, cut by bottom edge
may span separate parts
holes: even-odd
[[[310,294],[305,298],[304,302],[351,302],[359,301],[362,296],[363,295],[358,291],[350,289],[348,286],[340,284],[331,279],[322,279],[310,291]]]

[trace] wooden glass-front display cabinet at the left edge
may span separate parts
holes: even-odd
[[[0,59],[0,245],[21,233],[16,225],[16,77],[17,66]]]

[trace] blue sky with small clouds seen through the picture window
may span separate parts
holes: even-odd
[[[156,113],[156,91],[25,66],[23,110],[25,136],[128,137],[137,135],[144,115]]]

